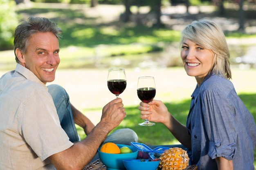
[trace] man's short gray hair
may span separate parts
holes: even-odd
[[[20,25],[15,29],[14,33],[14,54],[15,60],[19,63],[18,57],[15,53],[16,49],[20,49],[22,53],[26,53],[29,45],[29,38],[35,33],[53,33],[56,38],[61,38],[62,30],[57,26],[56,22],[50,21],[48,18],[29,17],[27,21],[22,20]]]

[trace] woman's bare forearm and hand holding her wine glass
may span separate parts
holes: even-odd
[[[140,103],[141,119],[148,117],[149,121],[162,123],[168,128],[173,136],[187,148],[191,148],[191,135],[188,134],[186,126],[180,124],[169,112],[163,102],[153,100],[147,103]]]

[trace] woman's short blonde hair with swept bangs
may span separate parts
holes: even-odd
[[[205,49],[213,51],[213,67],[211,71],[226,79],[231,79],[229,62],[229,49],[222,29],[213,21],[202,19],[193,21],[182,31],[182,44],[184,38],[193,41]]]

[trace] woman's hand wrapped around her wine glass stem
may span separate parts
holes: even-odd
[[[140,102],[139,110],[141,110],[141,119],[148,118],[149,121],[170,124],[171,114],[162,101],[152,100],[149,103]]]

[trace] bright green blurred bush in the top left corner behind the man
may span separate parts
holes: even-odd
[[[14,0],[0,0],[0,50],[13,49],[14,30],[18,15]]]

